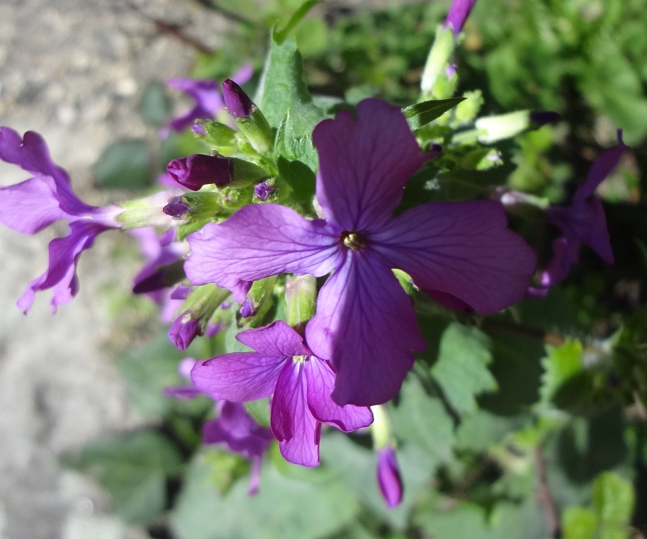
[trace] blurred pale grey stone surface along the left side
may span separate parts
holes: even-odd
[[[196,4],[156,0],[142,10],[214,46],[224,21]],[[183,42],[117,0],[0,2],[0,125],[40,132],[57,164],[89,203],[106,195],[89,167],[108,142],[154,137],[135,110],[148,81],[185,76],[194,55]],[[0,185],[26,179],[0,163]],[[1,203],[1,200],[0,200]],[[40,293],[28,316],[15,302],[45,270],[47,242],[0,228],[0,539],[140,539],[111,514],[96,485],[63,470],[59,456],[140,419],[130,409],[101,290],[128,290],[136,271],[106,263],[118,233],[81,256],[81,290],[52,315]]]

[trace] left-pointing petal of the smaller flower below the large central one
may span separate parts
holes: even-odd
[[[191,369],[191,380],[198,390],[213,399],[234,402],[264,399],[274,392],[285,363],[284,357],[267,357],[255,352],[225,353],[198,361]]]

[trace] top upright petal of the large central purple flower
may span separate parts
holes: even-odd
[[[386,222],[403,187],[427,160],[399,108],[379,99],[315,127],[319,152],[317,200],[325,217],[343,229],[371,229]]]

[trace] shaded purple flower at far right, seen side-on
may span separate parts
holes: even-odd
[[[548,208],[548,220],[561,229],[563,236],[553,242],[553,259],[541,274],[541,287],[531,288],[530,295],[544,295],[548,288],[566,278],[570,266],[578,261],[580,244],[590,246],[607,264],[614,262],[604,209],[593,195],[626,152],[620,131],[618,141],[617,146],[605,149],[595,159],[586,181],[575,190],[570,205]]]

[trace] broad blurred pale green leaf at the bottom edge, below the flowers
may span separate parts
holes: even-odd
[[[210,473],[201,458],[191,464],[171,515],[179,539],[324,538],[348,526],[359,511],[342,483],[317,474],[314,482],[285,477],[267,459],[256,496],[247,495],[247,478],[221,495]]]

